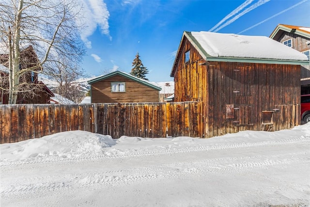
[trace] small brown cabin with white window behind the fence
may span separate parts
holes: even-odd
[[[92,103],[159,102],[160,87],[121,71],[88,81]]]

